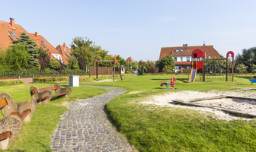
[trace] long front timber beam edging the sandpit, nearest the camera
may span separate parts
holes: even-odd
[[[244,111],[240,111],[240,110],[237,110],[237,109],[229,109],[229,108],[224,108],[224,107],[221,107],[221,106],[209,106],[209,105],[205,105],[205,104],[201,104],[201,103],[190,103],[190,102],[184,102],[184,101],[181,101],[181,100],[172,100],[172,101],[176,104],[182,104],[182,105],[188,105],[188,106],[207,107],[207,108],[218,109],[218,110],[222,110],[222,111],[225,111],[225,112],[229,112],[229,113],[235,114],[236,116],[256,118],[256,113],[255,112],[244,112]]]

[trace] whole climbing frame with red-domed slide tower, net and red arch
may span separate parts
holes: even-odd
[[[234,81],[234,52],[229,51],[226,54],[226,59],[206,59],[206,55],[202,50],[195,49],[191,56],[192,61],[189,83],[195,81],[197,73],[200,74],[200,81],[205,81],[206,78],[216,79],[225,77],[226,81]],[[232,62],[229,57],[232,58]]]

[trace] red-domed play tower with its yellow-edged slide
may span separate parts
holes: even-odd
[[[191,62],[191,74],[188,82],[194,82],[196,80],[197,69],[203,69],[203,58],[205,54],[200,49],[195,49],[192,52],[192,62]]]

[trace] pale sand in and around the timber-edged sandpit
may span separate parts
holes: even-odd
[[[152,100],[143,101],[143,104],[155,104],[158,106],[171,106],[177,108],[187,108],[187,109],[196,109],[201,112],[213,112],[213,118],[222,119],[226,121],[232,121],[235,119],[244,119],[250,121],[251,119],[245,119],[228,112],[222,112],[217,109],[197,107],[197,106],[179,106],[172,103],[171,100],[183,100],[189,101],[197,98],[203,97],[216,97],[220,95],[229,95],[235,97],[256,97],[256,93],[248,91],[234,91],[234,92],[219,92],[216,90],[211,90],[210,92],[198,92],[198,91],[178,91],[166,93],[164,95],[153,96]],[[203,100],[195,103],[202,103],[212,106],[222,106],[229,109],[238,109],[245,112],[256,112],[256,101],[252,100],[238,100],[238,99],[219,99],[219,100]]]

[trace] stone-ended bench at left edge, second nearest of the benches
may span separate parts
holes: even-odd
[[[37,109],[37,101],[30,99],[21,103],[15,103],[9,93],[0,93],[0,109],[4,117],[18,116],[24,122],[30,122]]]

